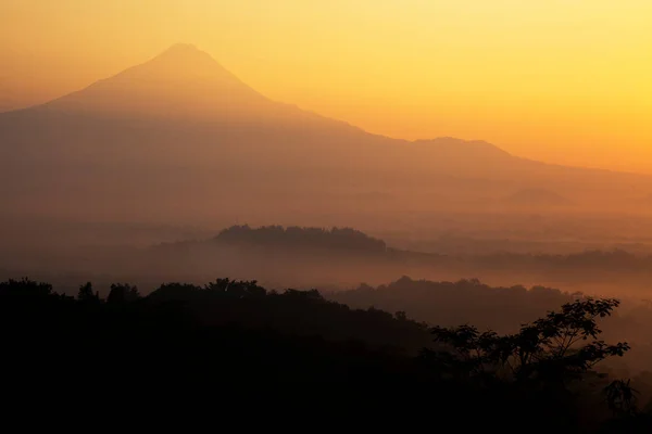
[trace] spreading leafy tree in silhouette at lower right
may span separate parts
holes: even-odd
[[[623,356],[627,343],[610,345],[598,340],[598,319],[611,316],[619,302],[578,299],[561,311],[550,311],[516,334],[480,333],[473,326],[435,327],[431,334],[442,349],[425,349],[422,358],[455,379],[534,381],[540,385],[565,385],[610,356]]]

